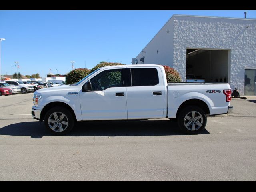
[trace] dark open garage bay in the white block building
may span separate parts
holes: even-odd
[[[228,50],[187,48],[186,75],[198,81],[229,82]]]

